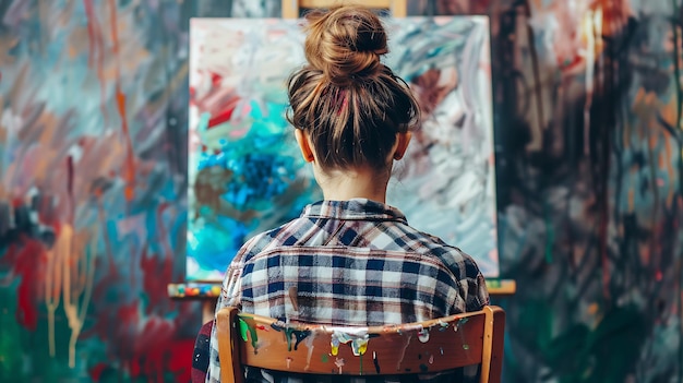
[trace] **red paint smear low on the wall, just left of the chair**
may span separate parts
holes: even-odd
[[[170,206],[161,204],[157,211],[157,219],[161,227],[159,240],[165,243],[168,241],[168,236],[164,229],[165,226],[161,225],[163,212]],[[145,273],[144,290],[151,296],[144,313],[141,312],[140,301],[120,304],[115,310],[107,309],[100,312],[95,325],[82,333],[83,338],[97,336],[100,339],[111,339],[107,340],[109,358],[119,360],[132,379],[163,382],[164,373],[168,374],[168,372],[175,375],[176,382],[189,382],[191,379],[195,339],[194,337],[177,338],[177,334],[183,321],[196,313],[195,306],[181,304],[175,320],[159,316],[163,308],[159,309],[164,301],[170,303],[166,296],[166,285],[172,276],[172,256],[169,254],[156,256],[144,253],[142,256],[141,262]],[[118,274],[117,271],[113,273]],[[158,280],[155,282],[155,278]],[[107,296],[112,286],[117,285],[121,285],[120,278],[107,275],[97,282],[93,297],[97,299]],[[108,300],[116,302],[122,298],[119,295],[109,297]],[[106,368],[107,366],[96,366],[92,369],[89,373],[93,380],[97,381],[95,378]]]

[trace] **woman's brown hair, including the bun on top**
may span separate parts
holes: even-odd
[[[311,140],[323,169],[386,168],[396,134],[419,120],[408,85],[384,65],[380,19],[362,7],[307,16],[308,64],[289,77],[288,121]]]

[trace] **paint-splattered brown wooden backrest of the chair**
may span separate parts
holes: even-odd
[[[339,327],[283,323],[221,309],[216,315],[221,382],[242,366],[291,373],[397,375],[480,364],[480,382],[500,382],[505,312],[483,310],[419,323]]]

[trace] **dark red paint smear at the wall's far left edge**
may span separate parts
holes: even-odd
[[[20,243],[12,243],[2,261],[13,266],[13,274],[21,276],[16,289],[16,322],[27,330],[35,331],[38,325],[38,299],[43,296],[38,282],[45,280],[44,271],[47,261],[45,247],[39,241],[22,235]]]

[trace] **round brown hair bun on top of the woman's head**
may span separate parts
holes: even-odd
[[[345,86],[382,70],[380,57],[388,51],[386,32],[372,11],[338,7],[307,19],[305,58],[329,82]]]

